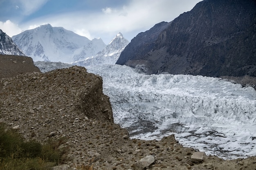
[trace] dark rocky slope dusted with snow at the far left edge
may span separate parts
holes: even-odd
[[[13,42],[13,40],[0,29],[0,54],[23,55],[25,54]]]

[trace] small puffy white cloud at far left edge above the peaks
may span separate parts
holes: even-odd
[[[19,26],[17,24],[14,24],[10,20],[7,20],[6,22],[0,21],[0,29],[2,29],[2,31],[6,33],[9,37],[12,37],[13,35],[17,35],[22,32]]]

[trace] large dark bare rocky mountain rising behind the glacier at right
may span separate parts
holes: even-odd
[[[148,74],[256,77],[256,1],[199,2],[172,22],[139,33],[116,64]]]

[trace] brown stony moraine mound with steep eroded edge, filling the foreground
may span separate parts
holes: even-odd
[[[152,170],[255,170],[256,158],[224,161],[204,157],[191,161],[195,150],[183,148],[174,136],[161,141],[130,139],[113,123],[109,99],[102,93],[101,77],[79,66],[47,73],[26,73],[0,82],[0,121],[16,128],[26,139],[44,143],[66,138],[66,167]],[[194,158],[193,158],[194,160]],[[198,160],[198,159],[196,159]],[[70,169],[71,169],[70,168]]]

